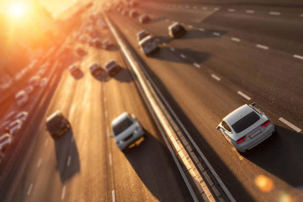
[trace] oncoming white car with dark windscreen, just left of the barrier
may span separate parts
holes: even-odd
[[[115,139],[116,145],[123,152],[144,140],[144,130],[134,114],[122,113],[111,122],[111,129],[113,135],[110,137]]]

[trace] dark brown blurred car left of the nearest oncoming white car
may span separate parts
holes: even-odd
[[[52,113],[46,120],[47,131],[49,131],[53,139],[57,139],[64,133],[66,133],[70,128],[70,123],[63,116],[61,111],[56,110]]]

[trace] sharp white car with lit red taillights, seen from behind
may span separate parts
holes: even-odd
[[[255,106],[256,103],[244,104],[217,126],[217,130],[239,152],[249,151],[276,131],[271,119]]]

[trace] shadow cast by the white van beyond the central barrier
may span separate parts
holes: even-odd
[[[173,52],[176,56],[168,57],[167,52]],[[186,58],[182,58],[180,54],[184,54]],[[207,52],[192,50],[192,49],[178,49],[174,48],[174,51],[171,51],[169,47],[161,47],[159,50],[153,52],[150,57],[155,59],[167,60],[172,62],[180,62],[185,64],[193,64],[205,62],[209,58],[210,54]]]

